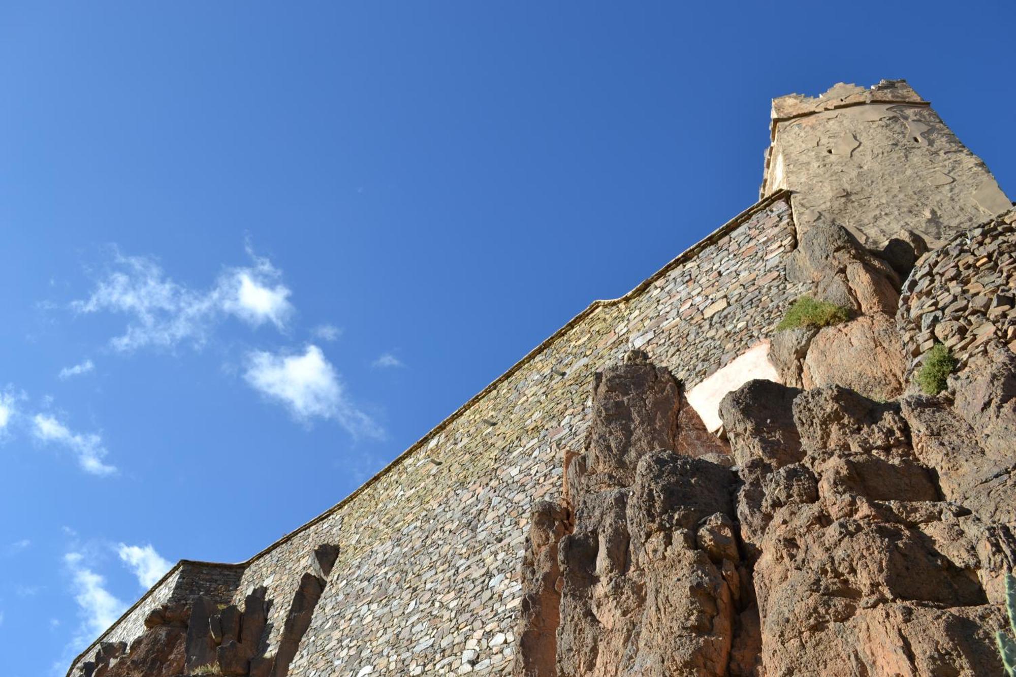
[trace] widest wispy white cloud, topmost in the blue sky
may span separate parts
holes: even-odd
[[[87,299],[73,301],[71,308],[126,315],[125,332],[110,341],[121,352],[173,348],[183,342],[200,347],[214,325],[231,315],[254,327],[267,322],[282,329],[294,312],[291,291],[271,261],[249,246],[247,253],[251,265],[226,268],[211,289],[199,291],[174,282],[150,257],[114,250],[111,271]]]

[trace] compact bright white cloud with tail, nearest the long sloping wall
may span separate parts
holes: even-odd
[[[381,429],[348,401],[334,367],[317,346],[303,355],[253,351],[244,378],[254,389],[282,403],[300,421],[334,419],[354,435],[380,437]]]

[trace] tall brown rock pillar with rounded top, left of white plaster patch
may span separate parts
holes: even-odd
[[[726,670],[740,594],[734,477],[659,448],[675,445],[680,398],[670,374],[642,359],[597,377],[588,446],[569,477],[576,507],[559,545],[557,672],[523,657],[516,674]]]

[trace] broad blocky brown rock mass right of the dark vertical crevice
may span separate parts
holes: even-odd
[[[971,427],[1016,420],[1014,378],[985,360],[955,379],[991,403]],[[1013,495],[978,485],[1008,477],[1011,438],[987,458],[948,397],[754,382],[723,405],[767,677],[1001,674]]]

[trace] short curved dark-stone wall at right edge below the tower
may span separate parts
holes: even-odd
[[[1016,210],[925,254],[903,285],[897,326],[911,372],[936,343],[965,364],[992,340],[1016,352]]]

